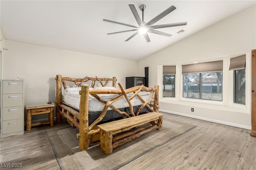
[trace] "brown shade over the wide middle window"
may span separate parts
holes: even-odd
[[[222,60],[207,63],[182,65],[182,74],[193,74],[202,72],[222,72]]]

